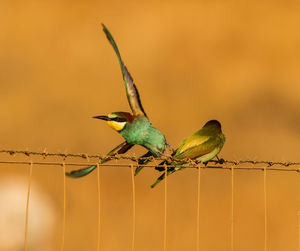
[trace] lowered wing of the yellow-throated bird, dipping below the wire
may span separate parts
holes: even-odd
[[[125,141],[122,144],[115,147],[114,149],[112,149],[106,156],[110,157],[110,156],[114,156],[116,154],[126,153],[131,147],[133,147],[133,145],[129,144]],[[99,164],[103,164],[103,163],[105,163],[106,161],[109,161],[109,160],[110,160],[109,158],[104,158],[104,159],[101,160],[101,162]],[[81,178],[83,176],[88,175],[92,171],[94,171],[94,169],[96,167],[97,166],[89,166],[87,168],[82,168],[82,169],[79,169],[79,170],[74,170],[74,171],[71,171],[71,172],[67,172],[66,175],[68,177],[71,177],[71,178]]]

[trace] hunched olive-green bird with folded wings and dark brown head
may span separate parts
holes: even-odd
[[[180,143],[178,149],[172,155],[174,161],[167,163],[165,160],[155,169],[162,172],[165,171],[165,168],[161,165],[172,165],[173,167],[167,167],[167,175],[170,175],[187,165],[186,162],[181,160],[197,159],[199,162],[206,163],[217,156],[224,143],[225,136],[222,133],[220,122],[217,120],[210,120],[199,131],[185,138]],[[155,187],[164,178],[165,173],[159,176],[151,187]]]

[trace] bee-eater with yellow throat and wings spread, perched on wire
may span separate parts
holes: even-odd
[[[93,117],[96,119],[105,120],[111,128],[120,133],[125,139],[125,142],[112,149],[107,156],[109,157],[116,154],[123,154],[132,146],[141,145],[148,149],[148,152],[142,157],[160,157],[164,153],[167,146],[165,136],[151,124],[142,106],[138,90],[133,82],[133,78],[123,63],[113,36],[105,27],[105,25],[102,24],[102,26],[108,41],[118,57],[125,84],[127,99],[132,111],[132,114],[129,112],[113,112],[105,116],[101,115]],[[103,164],[108,160],[109,158],[104,158],[100,164]],[[66,173],[66,175],[72,178],[79,178],[89,174],[95,168],[96,166],[90,166],[88,168]],[[142,168],[143,166],[137,167],[135,170],[135,175],[138,174]]]

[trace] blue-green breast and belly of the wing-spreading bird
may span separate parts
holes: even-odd
[[[165,136],[152,126],[147,117],[135,117],[127,123],[120,134],[131,144],[142,145],[159,157],[166,148]]]

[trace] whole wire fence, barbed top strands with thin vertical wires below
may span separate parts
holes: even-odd
[[[23,160],[2,160],[1,154],[8,154],[10,156],[16,155],[23,155],[28,157],[31,156],[39,156],[42,157],[43,160],[41,161],[23,161]],[[3,155],[2,155],[3,156]],[[61,161],[46,161],[46,158],[49,157],[59,157]],[[75,163],[75,162],[68,162],[68,159],[84,159],[85,162],[82,163]],[[132,182],[132,248],[131,250],[134,251],[135,248],[135,178],[134,178],[134,168],[140,166],[138,164],[139,160],[150,160],[153,161],[152,164],[148,164],[146,167],[154,168],[157,166],[164,167],[165,174],[167,174],[167,168],[172,165],[159,165],[157,161],[168,160],[169,162],[176,159],[173,159],[171,156],[161,157],[161,158],[154,158],[154,157],[143,157],[138,158],[135,156],[125,156],[125,155],[114,155],[114,156],[105,156],[105,155],[90,155],[90,154],[74,154],[74,153],[48,153],[47,151],[43,152],[33,152],[33,151],[19,151],[19,150],[0,150],[0,164],[18,164],[18,165],[29,165],[28,171],[28,190],[27,190],[27,202],[26,202],[26,219],[25,219],[25,251],[28,250],[28,210],[29,210],[29,203],[30,203],[30,192],[31,192],[31,180],[32,180],[32,173],[34,166],[39,165],[46,165],[46,166],[59,166],[62,168],[62,183],[63,183],[63,219],[62,219],[62,242],[61,242],[61,250],[64,250],[65,244],[65,228],[66,228],[66,166],[77,166],[77,167],[85,167],[96,165],[97,166],[97,193],[98,193],[98,242],[97,242],[97,251],[101,250],[101,243],[100,243],[100,235],[101,235],[101,204],[100,204],[100,196],[101,196],[101,168],[100,168],[100,161],[103,159],[109,160],[130,160],[134,163],[104,163],[101,166],[108,166],[108,167],[129,167],[131,168],[131,182]],[[182,160],[181,160],[182,161]],[[268,238],[268,221],[267,221],[267,171],[293,171],[293,172],[300,172],[300,162],[280,162],[280,161],[266,161],[266,160],[210,160],[208,164],[199,163],[195,160],[187,159],[185,160],[184,168],[197,168],[198,169],[198,186],[197,186],[197,224],[196,224],[196,248],[197,251],[200,251],[200,192],[201,192],[201,169],[203,168],[216,168],[216,169],[227,169],[231,171],[231,240],[230,240],[230,250],[234,250],[234,173],[236,169],[241,170],[262,170],[263,171],[263,189],[264,189],[264,251],[268,250],[267,245],[267,238]],[[251,166],[249,166],[251,165]],[[174,165],[175,166],[175,165]],[[177,165],[178,166],[178,165]],[[165,176],[164,179],[164,241],[163,241],[163,250],[167,250],[167,194],[168,194],[168,176]],[[298,213],[298,250],[300,251],[300,214]]]

